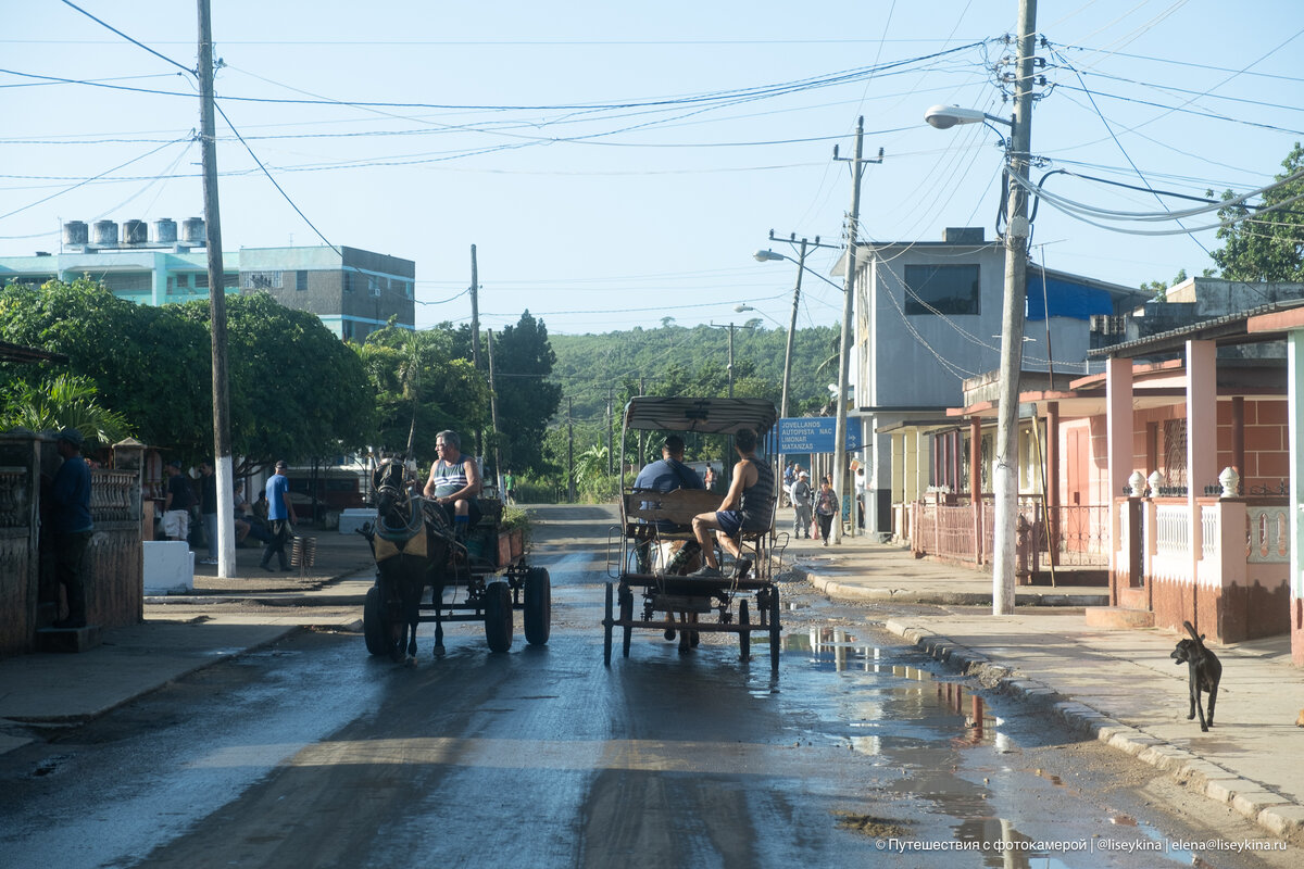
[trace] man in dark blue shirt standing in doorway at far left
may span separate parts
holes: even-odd
[[[55,532],[55,576],[67,589],[68,618],[53,623],[56,628],[86,627],[86,577],[82,563],[94,533],[90,520],[90,468],[81,457],[82,436],[77,429],[64,429],[55,440],[64,464],[55,472],[50,487],[52,509],[50,521]]]

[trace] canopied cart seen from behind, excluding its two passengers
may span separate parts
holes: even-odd
[[[630,431],[682,434],[687,440],[694,433],[733,435],[739,429],[751,429],[762,440],[775,420],[775,405],[759,399],[639,396],[625,408],[621,443],[630,443],[625,436]],[[722,498],[721,491],[695,489],[622,492],[619,551],[617,558],[609,554],[608,559],[617,568],[617,581],[606,584],[602,619],[606,664],[612,663],[617,628],[622,632],[626,658],[634,629],[645,628],[662,632],[666,640],[678,638],[681,651],[695,648],[702,633],[737,633],[745,661],[751,655],[751,634],[760,631],[768,634],[771,670],[778,671],[781,625],[771,560],[773,515],[763,532],[743,532],[737,539],[751,562],[750,571],[738,575],[735,569],[733,576],[713,578],[687,576],[696,564],[692,517],[713,512]],[[642,598],[638,610],[635,597]]]

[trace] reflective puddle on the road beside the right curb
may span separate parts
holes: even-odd
[[[1104,853],[1104,840],[1125,843],[1141,860],[1119,865],[1191,865],[1189,852],[1134,817],[1094,805],[1063,770],[1024,766],[1043,728],[998,715],[966,681],[914,666],[925,663],[921,653],[838,627],[788,633],[782,649],[789,701],[807,687],[825,691],[829,672],[841,680],[837,702],[822,694],[805,710],[801,741],[845,745],[876,770],[865,780],[870,800],[835,812],[840,827],[882,838],[904,826],[897,835],[906,839],[981,846],[996,861],[988,865],[1068,869],[1089,849]],[[885,817],[885,806],[898,817]]]

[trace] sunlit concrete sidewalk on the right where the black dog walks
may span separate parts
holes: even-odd
[[[782,528],[782,525],[781,525]],[[991,615],[991,573],[927,559],[865,537],[795,541],[785,565],[844,601],[951,605],[885,627],[988,688],[1039,705],[1072,727],[1224,803],[1265,830],[1304,838],[1304,670],[1290,638],[1210,645],[1223,663],[1215,724],[1187,720],[1187,667],[1161,629],[1086,624],[1107,589],[1018,586],[1015,615]],[[973,607],[971,610],[968,607]],[[1208,701],[1208,697],[1205,698]]]

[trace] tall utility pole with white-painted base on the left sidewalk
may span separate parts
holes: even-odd
[[[222,268],[222,212],[218,207],[218,154],[213,104],[213,17],[209,0],[200,13],[200,145],[203,154],[203,227],[209,253],[209,323],[213,344],[213,473],[218,483],[218,576],[236,569],[235,487],[231,473],[231,399],[227,390],[227,296]]]

